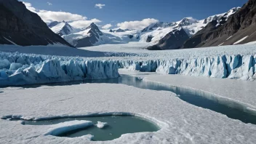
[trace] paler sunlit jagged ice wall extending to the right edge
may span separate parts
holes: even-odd
[[[117,60],[119,68],[130,71],[208,76],[220,79],[256,79],[256,55],[223,55],[193,59],[170,60]]]

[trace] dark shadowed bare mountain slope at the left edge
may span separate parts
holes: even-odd
[[[17,0],[0,0],[0,25],[0,44],[30,46],[58,43],[73,47],[52,32],[39,15]]]

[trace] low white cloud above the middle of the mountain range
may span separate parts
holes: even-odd
[[[146,18],[141,21],[125,21],[123,23],[117,23],[117,26],[121,29],[143,29],[147,27],[148,25],[151,25],[152,23],[157,23],[159,20],[153,19],[153,18]]]

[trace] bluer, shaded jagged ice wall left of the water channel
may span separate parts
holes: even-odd
[[[119,77],[111,60],[0,52],[0,86]]]

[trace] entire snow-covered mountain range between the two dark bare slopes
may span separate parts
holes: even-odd
[[[148,25],[142,31],[135,31],[129,29],[114,28],[108,30],[100,30],[95,23],[92,23],[87,28],[76,29],[65,22],[52,22],[48,26],[55,33],[59,34],[66,41],[75,47],[90,47],[100,44],[124,44],[129,41],[140,41],[140,42],[150,42],[151,45],[157,44],[161,49],[177,49],[180,47],[182,42],[185,42],[185,38],[190,38],[198,31],[201,31],[209,22],[212,20],[217,20],[216,25],[221,25],[223,20],[227,20],[230,15],[233,15],[238,8],[233,8],[228,12],[220,15],[212,15],[205,18],[204,20],[196,20],[193,17],[185,17],[182,20],[172,23],[153,23]],[[223,18],[224,17],[224,18]],[[172,35],[173,31],[176,31],[175,35]],[[183,33],[185,31],[185,33]],[[179,35],[180,34],[180,35]],[[171,39],[169,36],[177,36],[181,39]],[[169,39],[167,39],[169,38]],[[167,40],[168,44],[164,43],[163,40]],[[170,44],[173,42],[174,44]],[[175,44],[177,43],[177,44]],[[172,47],[167,47],[172,45]]]

